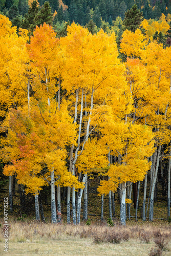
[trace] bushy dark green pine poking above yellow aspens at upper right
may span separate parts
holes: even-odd
[[[123,20],[124,30],[130,30],[135,32],[139,28],[143,20],[142,12],[137,8],[135,4],[130,10],[125,12],[125,18]]]

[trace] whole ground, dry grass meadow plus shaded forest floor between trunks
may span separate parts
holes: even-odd
[[[167,219],[167,196],[162,195],[158,184],[158,200],[154,204],[154,221],[142,222],[143,186],[141,183],[138,221],[131,204],[131,220],[120,225],[118,195],[115,193],[116,218],[108,226],[108,196],[104,197],[104,222],[100,220],[101,198],[97,194],[99,180],[92,180],[89,190],[88,218],[74,226],[67,222],[67,205],[61,201],[62,224],[51,224],[50,187],[41,192],[46,223],[35,222],[34,197],[26,196],[26,208],[20,206],[18,186],[13,197],[13,213],[8,206],[8,253],[4,251],[4,198],[9,198],[8,183],[0,193],[0,255],[120,255],[120,256],[171,256],[171,223]],[[149,186],[147,188],[148,195]],[[62,198],[63,189],[61,189]],[[47,196],[48,195],[48,196]],[[147,203],[148,198],[146,198]],[[8,202],[9,203],[9,202]],[[147,204],[146,204],[147,205]],[[148,206],[149,208],[149,206]],[[83,210],[81,209],[81,212]],[[147,214],[148,217],[148,214]],[[71,220],[72,221],[72,220]],[[161,251],[159,247],[163,247]],[[153,249],[152,249],[153,248]],[[158,254],[155,254],[158,253]]]

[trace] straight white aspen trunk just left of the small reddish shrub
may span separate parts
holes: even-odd
[[[56,203],[55,203],[55,176],[54,169],[51,172],[51,220],[56,223]]]

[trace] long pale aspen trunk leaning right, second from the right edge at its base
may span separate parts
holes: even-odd
[[[161,152],[161,145],[159,145],[159,147],[158,147],[155,176],[154,176],[154,179],[153,179],[153,182],[152,182],[152,192],[151,192],[151,199],[150,199],[150,204],[149,204],[149,221],[153,221],[154,192],[155,192],[155,185],[156,185],[156,179],[157,179],[158,168],[159,168],[160,152]]]

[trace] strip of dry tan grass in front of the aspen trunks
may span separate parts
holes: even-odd
[[[171,225],[164,222],[109,227],[9,221],[8,253],[1,223],[0,255],[171,255]]]

